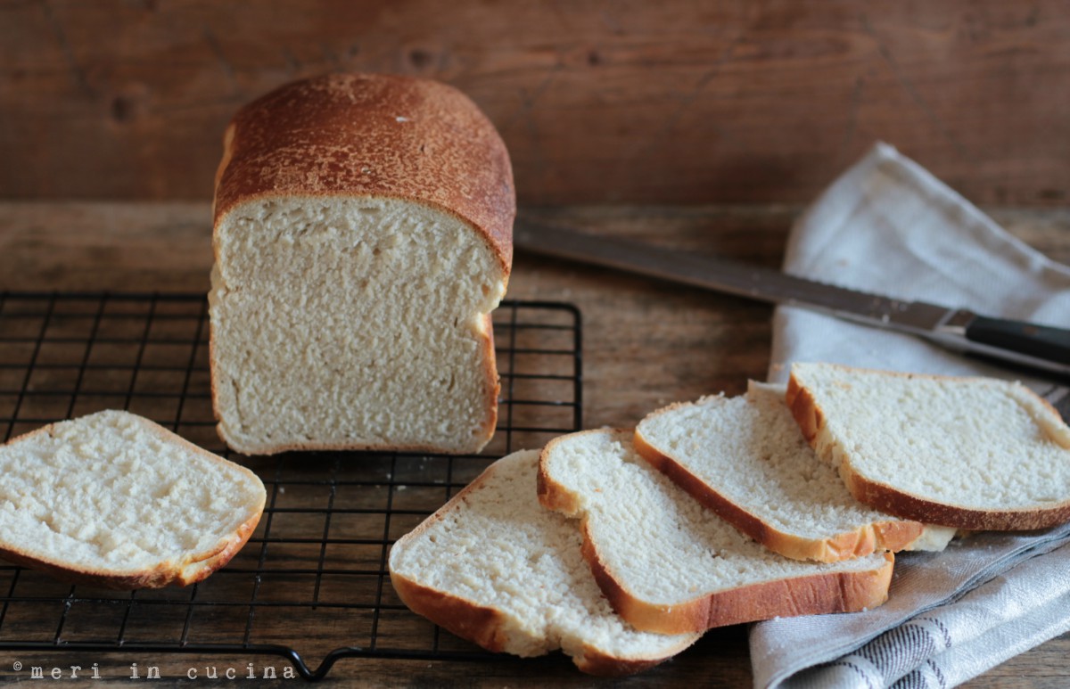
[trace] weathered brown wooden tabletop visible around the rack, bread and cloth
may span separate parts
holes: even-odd
[[[532,216],[591,232],[628,236],[766,266],[780,263],[794,206],[570,206],[525,209]],[[1070,262],[1070,211],[989,209],[1004,227],[1056,260]],[[202,292],[212,261],[207,203],[0,203],[0,290]],[[763,379],[771,308],[609,270],[518,254],[509,297],[569,302],[583,316],[584,422],[629,426],[675,400]],[[295,630],[301,633],[302,630]],[[345,640],[339,640],[339,645]],[[970,687],[1056,687],[1070,683],[1070,634],[1013,658]],[[671,662],[622,682],[627,686],[742,687],[751,682],[744,627],[713,630]],[[14,656],[0,658],[11,676]],[[138,659],[32,656],[26,667],[98,662],[105,676],[129,677]],[[71,660],[71,662],[68,662]],[[88,660],[88,662],[87,662]],[[244,671],[248,658],[229,659]],[[228,659],[162,656],[164,680]],[[281,665],[282,663],[276,662]],[[25,676],[25,675],[24,675]],[[168,679],[170,678],[170,679]],[[584,686],[591,678],[554,656],[492,663],[342,660],[325,684]],[[104,684],[104,683],[102,683]]]

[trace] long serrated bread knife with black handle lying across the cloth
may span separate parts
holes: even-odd
[[[766,267],[594,236],[518,218],[514,246],[725,292],[799,306],[857,323],[911,333],[946,348],[1070,374],[1070,331],[991,318],[964,308],[897,300],[808,280]]]

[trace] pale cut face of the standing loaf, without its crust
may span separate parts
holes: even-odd
[[[468,225],[394,199],[263,200],[216,246],[212,372],[232,447],[487,442],[505,278]]]

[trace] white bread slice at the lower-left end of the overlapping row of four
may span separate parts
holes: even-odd
[[[494,652],[562,648],[584,672],[638,672],[697,634],[636,631],[610,608],[580,535],[536,497],[538,451],[494,462],[391,549],[391,581],[414,612]]]

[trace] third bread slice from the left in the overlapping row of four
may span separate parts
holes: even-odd
[[[658,410],[636,427],[635,445],[692,497],[794,560],[942,550],[954,535],[855,500],[802,438],[783,385],[751,382],[746,396]]]

